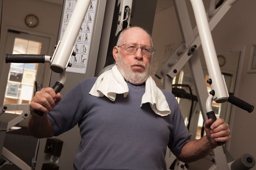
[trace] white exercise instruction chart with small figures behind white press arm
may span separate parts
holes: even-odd
[[[66,0],[61,24],[60,40],[63,37],[64,31],[68,25],[76,2],[77,0]],[[74,52],[76,53],[76,55],[71,56],[69,60],[69,62],[72,63],[72,67],[66,68],[66,71],[68,72],[81,74],[85,74],[86,72],[96,4],[97,0],[91,0],[87,13],[85,15],[85,19],[83,20],[82,26],[77,35],[77,39],[75,40]]]

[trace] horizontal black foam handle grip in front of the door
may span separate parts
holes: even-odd
[[[5,54],[6,63],[44,63],[44,54]]]

